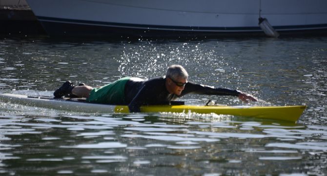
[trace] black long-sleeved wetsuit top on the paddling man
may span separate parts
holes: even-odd
[[[188,93],[205,95],[232,95],[240,94],[237,90],[227,88],[211,88],[193,82],[187,82],[181,95],[170,94],[165,87],[165,78],[158,77],[147,81],[130,79],[125,85],[125,101],[130,112],[140,112],[142,105],[169,104]]]

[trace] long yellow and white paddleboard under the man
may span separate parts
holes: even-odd
[[[105,105],[79,101],[78,99],[29,97],[27,95],[0,94],[0,101],[50,108],[56,110],[70,110],[92,113],[128,113],[127,106]],[[228,114],[252,118],[283,120],[296,122],[306,106],[270,106],[270,107],[245,107],[245,106],[199,106],[199,105],[152,105],[142,106],[141,112],[196,112]]]

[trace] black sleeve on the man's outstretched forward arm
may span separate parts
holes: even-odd
[[[182,92],[182,95],[192,93],[192,94],[205,94],[205,95],[230,95],[239,96],[241,92],[237,90],[232,90],[228,88],[214,88],[204,85],[199,85],[193,82],[188,82]]]

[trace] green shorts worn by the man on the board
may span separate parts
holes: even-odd
[[[126,104],[125,84],[129,78],[130,77],[124,77],[100,88],[93,88],[90,92],[89,98],[87,98],[86,101],[113,105]]]

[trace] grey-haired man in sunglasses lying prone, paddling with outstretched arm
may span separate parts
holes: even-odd
[[[67,81],[54,92],[56,98],[75,95],[88,102],[114,105],[128,105],[130,112],[140,112],[142,105],[169,104],[188,93],[205,95],[231,95],[242,101],[257,101],[251,95],[227,88],[213,88],[188,82],[188,74],[183,66],[169,66],[165,77],[144,81],[140,78],[125,77],[99,88],[74,85]]]

